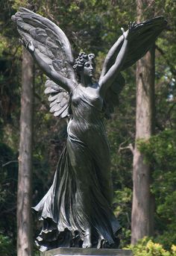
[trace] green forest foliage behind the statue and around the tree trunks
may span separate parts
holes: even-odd
[[[137,1],[136,1],[137,2]],[[22,46],[10,17],[29,5],[63,29],[75,57],[79,51],[96,56],[96,78],[107,51],[137,20],[132,0],[4,1],[0,3],[0,255],[16,255],[16,197],[19,156],[19,116],[22,81]],[[135,247],[135,255],[176,255],[176,1],[143,1],[147,18],[163,15],[168,25],[155,46],[154,135],[139,141],[138,149],[151,166],[150,189],[154,196],[154,232]],[[147,3],[147,4],[146,4]],[[114,213],[123,227],[121,248],[131,243],[133,153],[136,122],[136,66],[124,72],[126,84],[119,106],[107,120]],[[44,96],[45,75],[34,68],[34,129],[32,205],[51,185],[57,160],[66,140],[66,122],[48,112]],[[145,201],[145,199],[144,199]],[[34,237],[39,223],[34,217]],[[33,238],[34,240],[34,238]],[[135,251],[136,250],[136,251]],[[150,254],[151,253],[151,254]]]

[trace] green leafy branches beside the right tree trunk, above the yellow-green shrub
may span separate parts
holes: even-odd
[[[157,240],[168,248],[176,241],[176,132],[162,131],[138,145],[153,169],[151,191],[157,207]]]

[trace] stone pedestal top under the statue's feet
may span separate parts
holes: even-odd
[[[43,252],[41,256],[132,256],[131,250],[57,248]]]

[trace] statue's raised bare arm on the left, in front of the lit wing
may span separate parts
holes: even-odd
[[[73,81],[69,78],[64,78],[63,75],[60,75],[58,72],[56,72],[54,69],[51,69],[51,66],[48,65],[35,51],[34,44],[32,42],[28,42],[25,44],[24,41],[22,41],[22,44],[28,49],[28,51],[31,53],[32,57],[34,57],[34,60],[38,63],[40,66],[40,69],[45,72],[45,75],[48,76],[52,81],[54,81],[56,84],[59,84],[60,87],[63,87],[66,91],[69,93],[72,91],[72,84]]]

